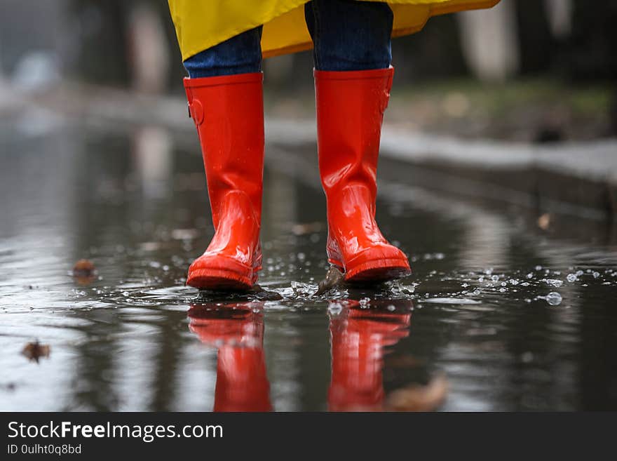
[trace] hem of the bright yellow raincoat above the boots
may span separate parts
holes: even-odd
[[[182,59],[264,25],[264,58],[313,46],[304,23],[307,0],[168,0]],[[373,0],[360,0],[373,1]],[[418,32],[431,16],[489,8],[499,0],[390,0],[393,36]]]

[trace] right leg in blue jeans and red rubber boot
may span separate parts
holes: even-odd
[[[315,48],[328,260],[346,281],[406,276],[405,253],[386,241],[375,222],[381,122],[394,71],[392,11],[385,3],[313,0],[305,15]]]

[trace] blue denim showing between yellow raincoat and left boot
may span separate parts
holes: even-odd
[[[231,37],[184,61],[191,79],[262,71],[262,26]]]

